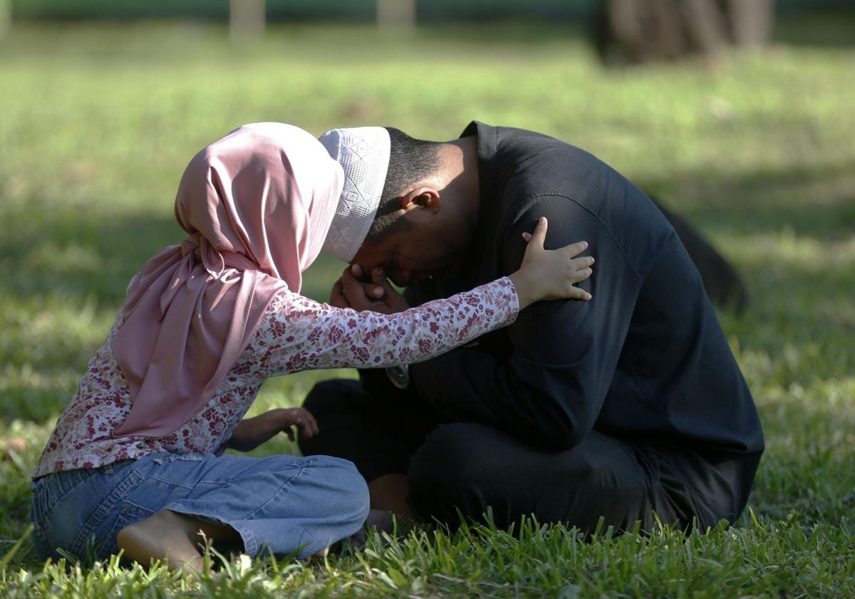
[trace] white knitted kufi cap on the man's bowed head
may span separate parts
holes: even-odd
[[[331,129],[320,138],[345,171],[345,186],[324,249],[349,262],[369,234],[389,167],[389,132],[381,126]]]

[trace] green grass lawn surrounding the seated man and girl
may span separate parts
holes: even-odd
[[[855,596],[855,50],[775,47],[714,67],[604,72],[541,30],[22,26],[0,41],[0,596]],[[579,145],[676,208],[746,277],[722,325],[768,442],[737,526],[684,537],[562,526],[372,537],[309,567],[235,559],[215,578],[44,565],[28,475],[130,277],[180,240],[186,162],[235,126],[392,125],[454,138],[471,119]],[[324,299],[342,265],[310,269]],[[602,300],[603,298],[601,298]],[[315,381],[270,380],[253,413]],[[289,452],[286,439],[257,453]]]

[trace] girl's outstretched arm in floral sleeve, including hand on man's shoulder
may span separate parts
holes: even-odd
[[[254,374],[385,367],[424,361],[516,319],[521,305],[540,299],[588,299],[573,286],[591,274],[593,258],[572,259],[587,247],[543,249],[545,220],[534,232],[522,267],[509,277],[398,314],[357,312],[285,291],[271,302],[252,345]]]

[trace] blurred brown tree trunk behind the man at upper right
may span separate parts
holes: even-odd
[[[607,64],[715,58],[769,38],[774,0],[602,0],[594,44]]]

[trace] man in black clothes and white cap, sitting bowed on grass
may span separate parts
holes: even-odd
[[[487,508],[498,526],[534,514],[585,531],[739,517],[764,449],[757,410],[698,270],[643,192],[569,144],[480,122],[447,143],[381,127],[321,143],[349,195],[327,246],[377,288],[356,302],[345,272],[333,305],[389,313],[495,279],[540,215],[548,244],[586,239],[598,272],[591,302],[540,302],[409,373],[316,385],[305,455],[353,461],[372,508],[452,525]],[[387,158],[367,166],[371,152]]]

